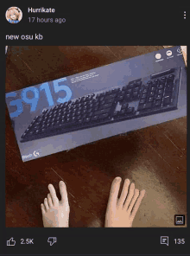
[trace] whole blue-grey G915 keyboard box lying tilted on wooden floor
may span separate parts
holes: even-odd
[[[180,46],[5,95],[22,161],[187,115]]]

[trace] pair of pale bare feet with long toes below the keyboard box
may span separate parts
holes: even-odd
[[[104,227],[132,227],[136,212],[140,207],[145,190],[139,192],[129,179],[124,180],[120,197],[118,192],[122,179],[116,177],[111,183],[110,197],[105,214]],[[57,198],[54,186],[48,185],[48,198],[41,203],[41,213],[44,227],[69,227],[70,207],[66,192],[66,184],[60,182],[61,201]]]

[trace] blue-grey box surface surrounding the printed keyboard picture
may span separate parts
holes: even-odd
[[[35,122],[37,116],[41,116],[44,110],[49,111],[55,106],[67,104],[69,100],[73,101],[87,94],[106,92],[115,87],[123,88],[131,81],[143,79],[151,74],[159,74],[175,67],[180,68],[179,94],[176,99],[177,107],[172,111],[121,120],[111,124],[95,125],[91,128],[67,131],[58,135],[48,134],[46,138],[33,138],[26,142],[22,140],[23,133],[32,122]],[[9,92],[5,94],[5,100],[22,161],[26,162],[62,150],[71,150],[102,138],[186,116],[187,70],[180,46],[163,48],[149,54],[93,68],[80,74]]]

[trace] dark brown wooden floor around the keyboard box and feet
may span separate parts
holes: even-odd
[[[6,93],[161,48],[11,47]],[[6,227],[43,227],[41,202],[49,183],[60,196],[60,180],[70,227],[104,227],[115,176],[147,191],[133,227],[174,227],[174,214],[187,216],[187,117],[23,163],[6,107]]]

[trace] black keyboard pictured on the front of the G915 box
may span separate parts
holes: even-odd
[[[174,67],[44,109],[21,142],[176,110],[180,72],[181,67]]]

